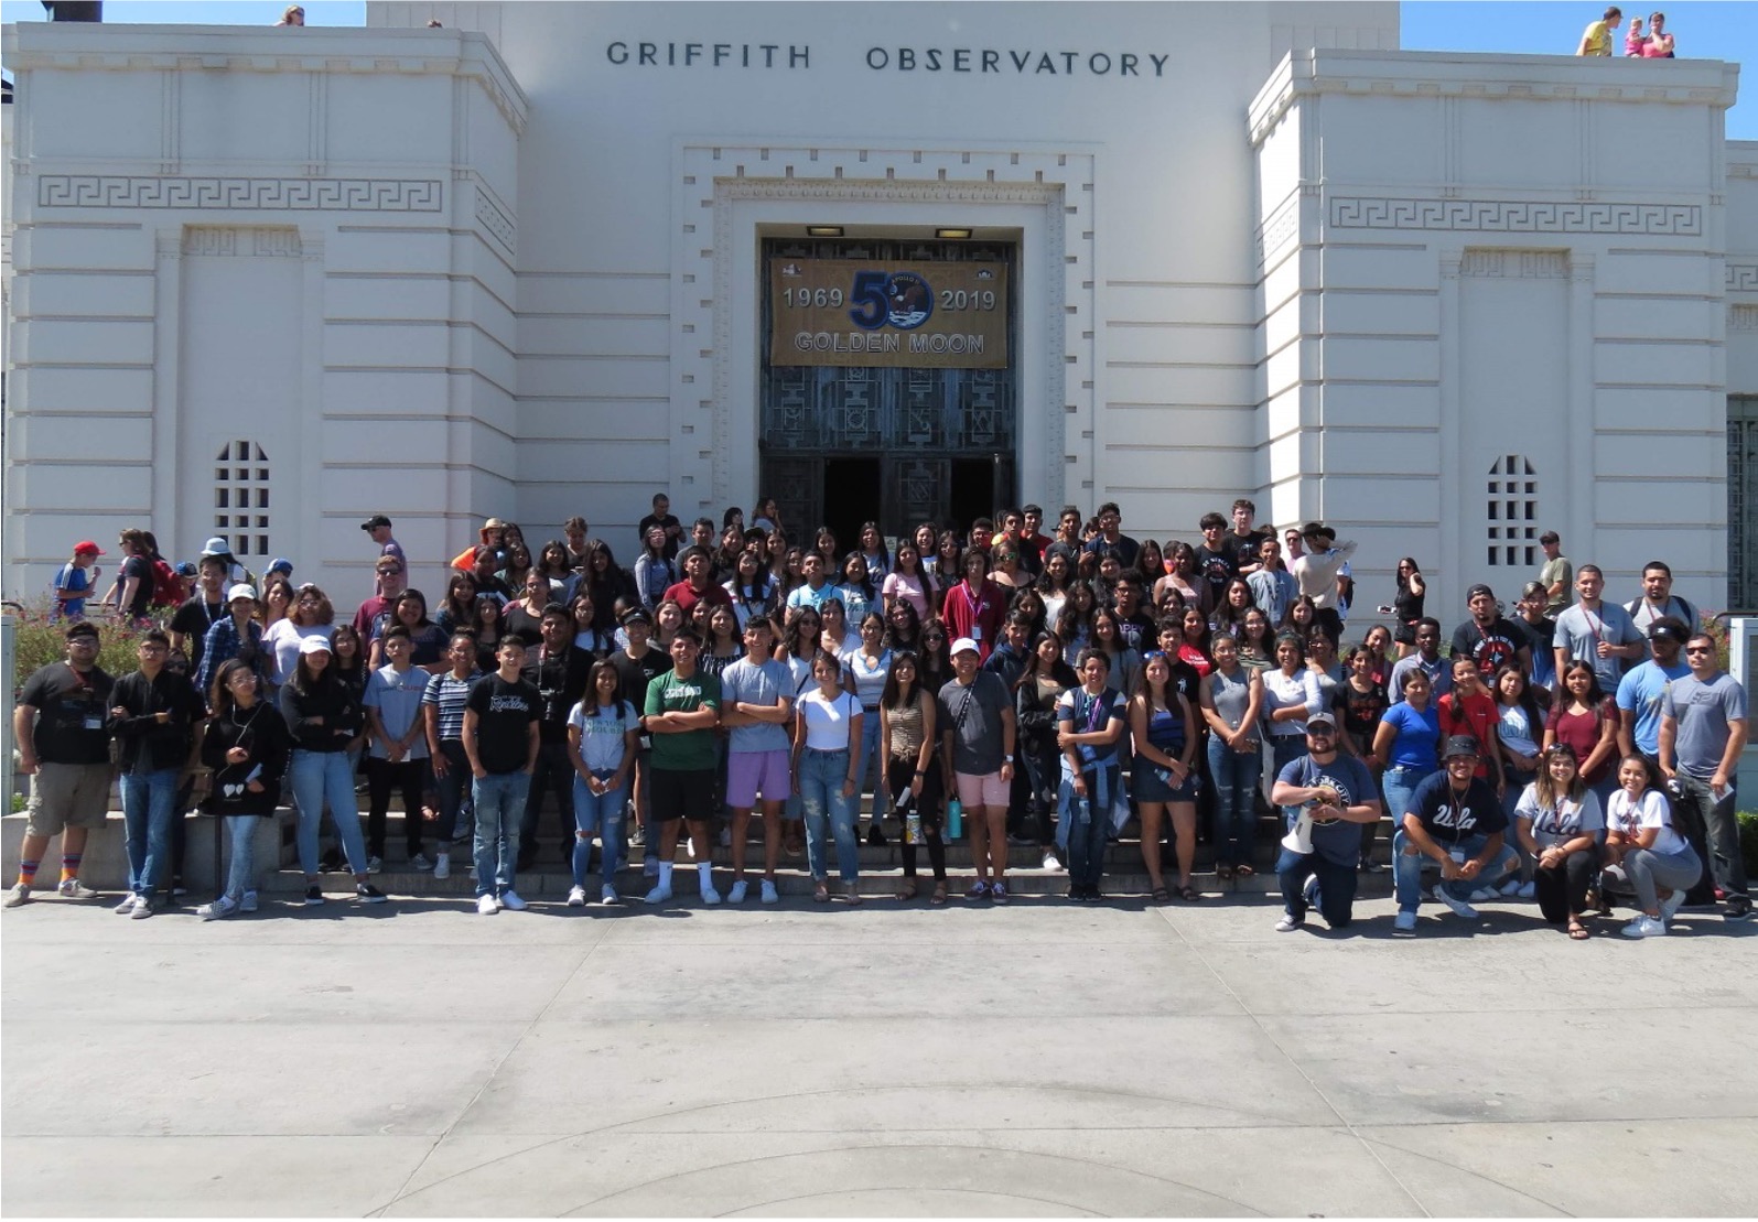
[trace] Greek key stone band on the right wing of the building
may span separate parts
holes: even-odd
[[[1698,237],[1704,209],[1698,204],[1333,195],[1329,222],[1333,229]]]

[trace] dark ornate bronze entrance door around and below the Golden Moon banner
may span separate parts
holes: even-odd
[[[803,241],[763,243],[763,366],[758,413],[758,492],[774,496],[791,540],[809,540],[817,526],[835,531],[842,550],[853,550],[863,522],[905,535],[918,522],[965,527],[1014,499],[1014,445],[1018,390],[1013,334],[1016,332],[1011,276],[1016,246],[972,241]],[[935,264],[960,262],[999,269],[1004,287],[995,318],[1006,329],[1002,367],[942,367],[911,364],[825,366],[772,360],[777,325],[774,273],[805,260],[872,260],[923,267],[939,280]],[[977,276],[988,274],[977,269]],[[907,276],[907,273],[905,273]],[[981,281],[972,281],[981,283]],[[948,306],[960,304],[948,292]],[[839,304],[844,304],[839,301]]]

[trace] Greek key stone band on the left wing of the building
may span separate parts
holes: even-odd
[[[151,178],[44,174],[39,207],[186,207],[292,213],[438,213],[432,178]]]

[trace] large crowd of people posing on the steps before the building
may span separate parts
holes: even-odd
[[[232,846],[200,916],[255,911],[255,826],[283,786],[311,906],[322,870],[343,865],[360,902],[385,900],[373,876],[401,793],[404,869],[447,877],[469,842],[482,914],[526,907],[517,881],[552,798],[575,907],[594,888],[621,902],[636,849],[647,902],[672,900],[680,840],[700,900],[742,904],[752,819],[759,902],[779,900],[782,858],[803,858],[814,900],[832,898],[835,870],[860,904],[863,807],[867,844],[900,839],[900,900],[921,893],[923,847],[930,902],[955,895],[946,846],[960,837],[967,900],[1006,904],[1020,853],[1065,870],[1071,900],[1099,900],[1108,842],[1136,821],[1151,900],[1197,902],[1199,839],[1218,883],[1248,877],[1275,809],[1280,930],[1311,913],[1352,923],[1359,874],[1385,869],[1382,823],[1398,930],[1417,928],[1424,895],[1464,918],[1529,898],[1573,939],[1614,900],[1635,907],[1630,937],[1665,934],[1686,902],[1749,916],[1733,816],[1746,695],[1665,563],[1617,605],[1602,570],[1577,570],[1547,533],[1512,617],[1473,586],[1443,654],[1413,557],[1350,638],[1355,545],[1324,522],[1278,535],[1241,498],[1197,522],[1195,545],[1130,538],[1113,503],[1044,526],[1025,505],[895,543],[867,522],[844,545],[828,527],[791,535],[772,499],[749,522],[730,508],[686,526],[659,494],[628,566],[580,517],[543,542],[489,519],[431,607],[374,515],[374,584],[352,619],[295,586],[288,561],[258,582],[222,538],[188,598],[155,610],[135,587],[156,587],[156,543],[127,531],[144,563],[113,594],[144,631],[121,679],[93,665],[81,615],[100,549],[83,542],[54,582],[67,659],[18,703],[33,782],[5,904],[32,897],[54,835],[60,893],[95,895],[79,862],[107,812],[114,740],[130,863],[118,911],[134,918],[178,890],[192,804],[227,821]]]

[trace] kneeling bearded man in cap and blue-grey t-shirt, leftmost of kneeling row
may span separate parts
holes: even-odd
[[[1285,904],[1276,932],[1304,925],[1308,907],[1317,907],[1331,928],[1347,928],[1355,907],[1361,826],[1380,818],[1380,798],[1373,774],[1354,756],[1338,754],[1331,714],[1306,719],[1306,754],[1276,775],[1269,800],[1290,811],[1290,835],[1276,862]],[[1310,825],[1308,844],[1297,844],[1303,821]]]

